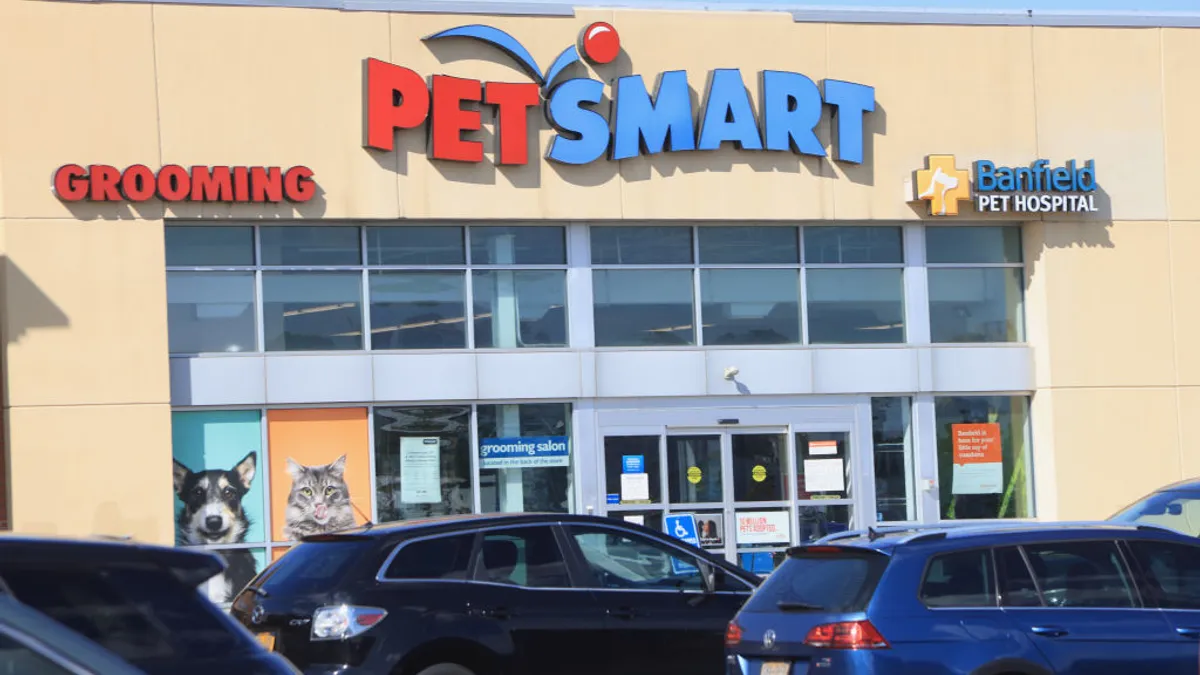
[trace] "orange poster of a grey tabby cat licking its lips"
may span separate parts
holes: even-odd
[[[366,408],[272,410],[266,413],[271,539],[361,525],[371,514]]]

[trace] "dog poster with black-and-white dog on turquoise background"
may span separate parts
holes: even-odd
[[[263,428],[258,411],[172,413],[175,543],[217,546],[226,571],[202,591],[232,602],[263,568],[266,540],[262,477]]]

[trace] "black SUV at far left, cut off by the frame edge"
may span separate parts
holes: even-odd
[[[14,598],[40,611],[140,673],[295,675],[287,661],[264,650],[199,593],[197,586],[223,568],[220,557],[186,549],[0,536],[0,595],[6,602]],[[23,622],[23,627],[32,631],[37,626]],[[22,650],[16,643],[28,640],[16,634],[10,634],[8,640],[13,643],[4,645],[12,653],[6,658],[13,662]],[[23,658],[37,661],[28,655]],[[90,661],[86,655],[83,658]],[[90,665],[59,665],[56,670],[43,663],[44,669],[30,674],[113,673],[115,668]]]

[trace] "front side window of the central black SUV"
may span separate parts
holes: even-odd
[[[571,527],[570,532],[590,572],[589,587],[704,590],[695,556],[618,530]]]

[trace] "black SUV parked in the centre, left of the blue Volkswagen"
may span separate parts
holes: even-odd
[[[721,675],[757,584],[624,521],[460,515],[308,537],[232,613],[312,675]]]

